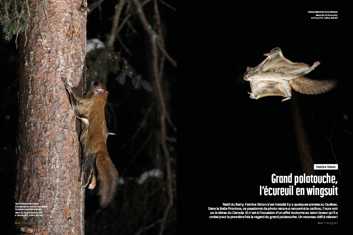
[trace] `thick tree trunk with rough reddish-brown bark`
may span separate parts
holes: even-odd
[[[16,233],[27,227],[37,234],[84,234],[79,121],[64,84],[79,84],[85,92],[86,12],[80,9],[81,3],[29,1],[38,18],[31,20],[18,42],[14,197],[17,203],[34,203],[26,208],[43,207],[26,210],[15,205],[19,213],[14,218]]]

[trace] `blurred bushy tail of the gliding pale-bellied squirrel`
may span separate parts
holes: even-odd
[[[331,91],[337,86],[336,79],[312,80],[306,77],[299,77],[289,81],[291,87],[302,94],[315,95]]]

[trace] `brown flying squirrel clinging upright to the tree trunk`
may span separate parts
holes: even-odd
[[[95,188],[98,174],[101,177],[98,196],[100,196],[100,206],[106,208],[112,203],[116,186],[119,183],[119,174],[107,150],[108,129],[104,117],[104,105],[109,92],[103,82],[94,79],[90,90],[85,96],[72,92],[70,86],[66,86],[70,93],[72,107],[76,117],[81,119],[81,143],[83,148],[83,172],[84,182],[82,187],[86,187],[93,177],[90,189]],[[97,173],[98,170],[98,173]]]

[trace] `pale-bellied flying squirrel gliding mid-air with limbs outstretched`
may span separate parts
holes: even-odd
[[[250,81],[250,98],[259,99],[270,95],[286,97],[282,101],[291,99],[292,88],[303,94],[321,94],[337,86],[337,80],[312,80],[303,75],[310,73],[319,64],[312,66],[305,63],[292,62],[285,58],[278,47],[265,53],[268,56],[255,68],[247,67],[244,80]]]

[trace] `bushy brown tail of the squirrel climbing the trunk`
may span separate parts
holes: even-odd
[[[99,186],[99,205],[106,208],[114,200],[116,186],[119,183],[119,174],[108,152],[98,153],[96,157],[96,167],[101,177]]]

